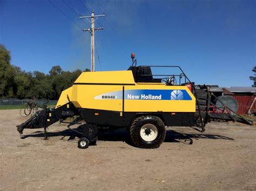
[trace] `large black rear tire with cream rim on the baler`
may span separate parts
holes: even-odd
[[[158,148],[165,139],[165,125],[157,116],[141,116],[132,122],[130,136],[139,148]]]

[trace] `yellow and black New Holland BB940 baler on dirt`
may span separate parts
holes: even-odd
[[[152,74],[151,68],[178,68],[180,74]],[[184,80],[184,83],[181,81]],[[134,145],[157,148],[165,139],[165,126],[199,126],[204,131],[206,116],[196,114],[193,84],[178,66],[131,66],[128,70],[83,72],[64,90],[55,108],[39,111],[25,123],[25,128],[44,128],[66,118],[75,119],[82,137],[79,148],[95,143],[101,129],[126,128]],[[195,92],[195,91],[194,91]]]

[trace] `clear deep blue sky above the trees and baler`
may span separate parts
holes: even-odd
[[[135,52],[139,65],[179,65],[197,84],[252,85],[256,1],[51,0],[87,29],[65,4],[90,15],[80,1],[107,16],[96,21],[104,27],[96,33],[102,70],[127,69]],[[0,0],[0,43],[26,71],[90,68],[90,33],[48,0]]]

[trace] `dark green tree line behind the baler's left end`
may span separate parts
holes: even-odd
[[[60,66],[53,66],[49,74],[34,71],[26,72],[20,67],[11,65],[10,51],[0,44],[0,98],[45,98],[58,100],[60,93],[72,86],[83,72],[63,71]],[[85,72],[89,72],[85,69]]]

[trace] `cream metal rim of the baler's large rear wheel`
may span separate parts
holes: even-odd
[[[146,142],[152,142],[157,138],[158,131],[157,127],[153,124],[145,124],[140,129],[140,137]]]

